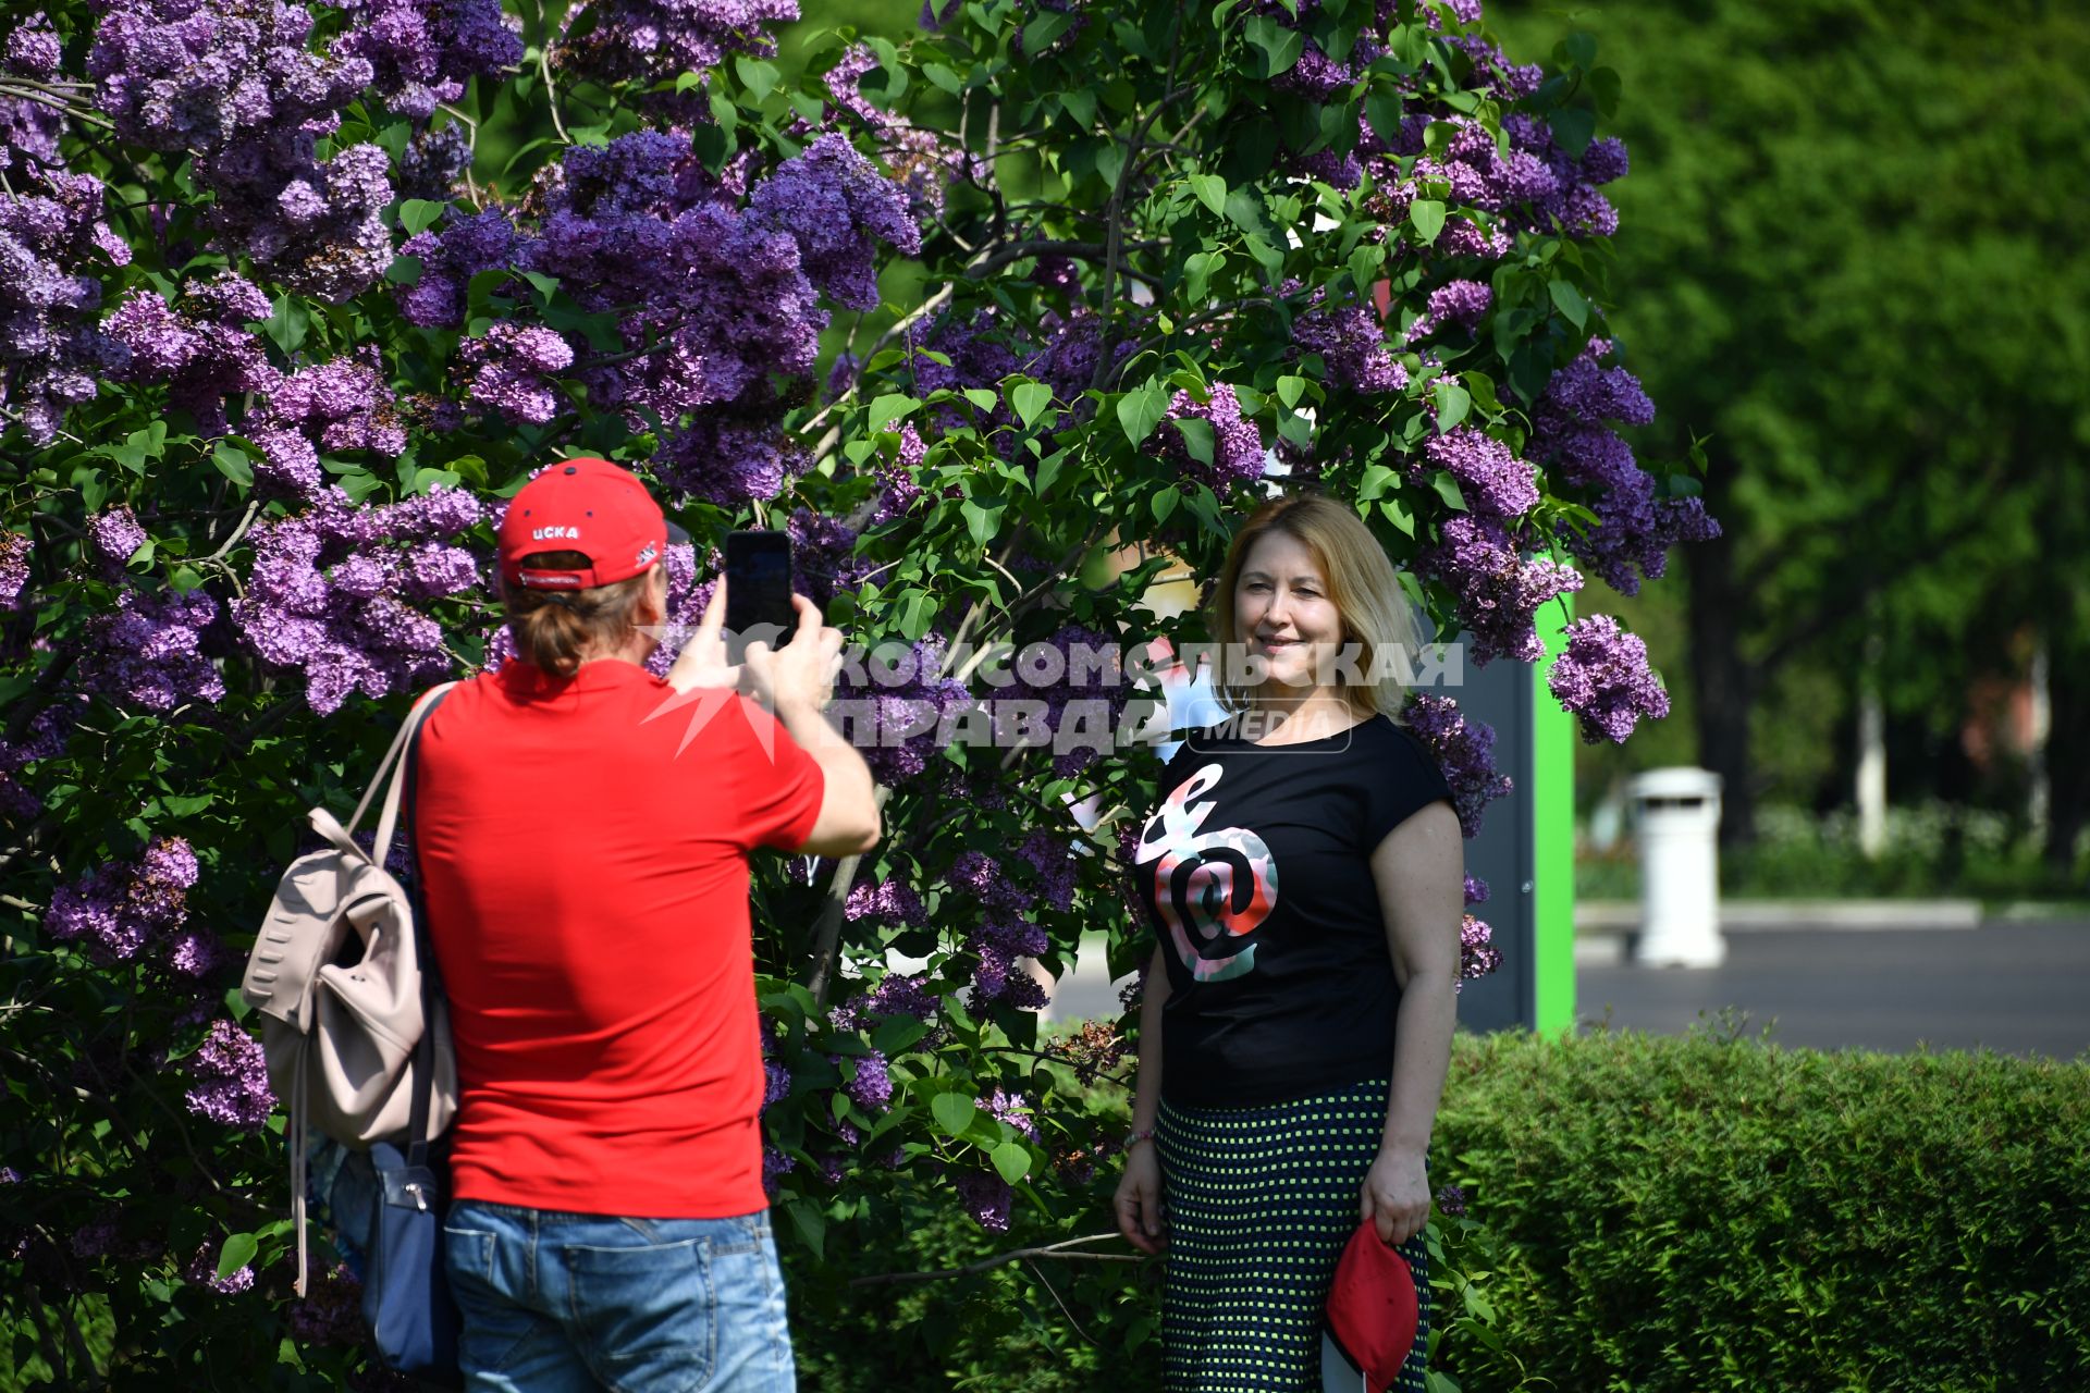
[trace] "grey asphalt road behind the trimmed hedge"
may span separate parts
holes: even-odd
[[[1680,1034],[1724,1007],[1781,1044],[1906,1053],[1990,1046],[2075,1059],[2090,1050],[2090,923],[1979,929],[1749,929],[1722,967],[1590,965],[1576,1015]],[[1116,1017],[1101,973],[1060,984],[1055,1019]]]

